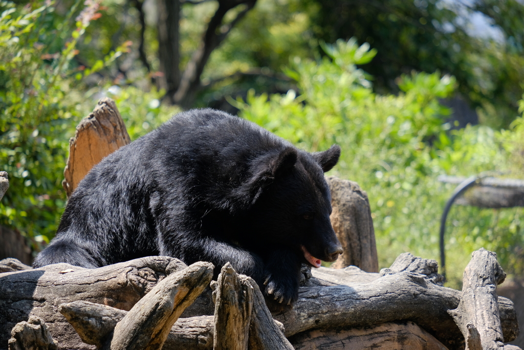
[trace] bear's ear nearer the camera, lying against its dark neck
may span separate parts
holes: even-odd
[[[251,167],[252,176],[235,191],[235,197],[247,206],[253,205],[275,178],[293,168],[297,158],[293,147],[258,158]]]

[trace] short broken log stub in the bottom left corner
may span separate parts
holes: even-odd
[[[36,316],[19,322],[11,331],[9,350],[57,350],[57,341],[51,337],[45,322]]]

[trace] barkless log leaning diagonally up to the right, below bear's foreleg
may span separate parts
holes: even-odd
[[[116,324],[111,350],[160,350],[173,323],[211,282],[213,268],[200,261],[160,281]]]

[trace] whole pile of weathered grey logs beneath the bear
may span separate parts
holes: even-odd
[[[12,350],[518,349],[503,344],[517,335],[516,314],[497,298],[505,274],[484,249],[462,292],[441,286],[435,260],[409,253],[380,273],[304,266],[298,301],[276,315],[230,265],[217,281],[210,263],[162,256],[0,269],[12,270],[0,274],[0,348]]]

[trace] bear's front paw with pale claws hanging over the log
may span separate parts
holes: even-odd
[[[298,284],[289,279],[277,280],[269,275],[264,285],[266,286],[264,297],[271,312],[291,310],[293,303],[298,299]]]

